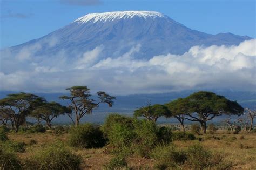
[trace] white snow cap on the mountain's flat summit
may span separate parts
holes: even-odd
[[[83,17],[76,19],[74,22],[78,23],[86,23],[86,22],[93,22],[96,23],[97,21],[113,21],[115,19],[126,19],[126,18],[133,18],[133,17],[166,17],[163,13],[155,12],[155,11],[116,11],[116,12],[104,12],[104,13],[89,13]]]

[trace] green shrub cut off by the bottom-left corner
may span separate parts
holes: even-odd
[[[4,151],[0,147],[0,169],[22,169],[22,166],[15,153]]]

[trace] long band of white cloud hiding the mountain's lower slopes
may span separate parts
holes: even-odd
[[[72,57],[65,49],[54,56],[34,56],[42,47],[37,44],[16,56],[2,51],[0,87],[2,91],[63,92],[69,86],[87,85],[113,94],[211,88],[255,91],[255,43],[252,39],[238,46],[194,46],[183,55],[149,60],[136,58],[139,44],[117,58],[101,56],[103,46]]]

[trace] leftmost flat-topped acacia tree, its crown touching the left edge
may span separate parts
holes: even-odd
[[[26,122],[26,117],[43,101],[42,97],[34,94],[17,93],[8,94],[6,98],[0,100],[0,105],[2,111],[13,122],[14,131],[17,133],[19,126]]]

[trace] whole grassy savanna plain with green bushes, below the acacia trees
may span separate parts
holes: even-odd
[[[1,127],[1,169],[253,169],[256,166],[255,132],[234,134],[210,128],[201,135],[190,126],[190,131],[184,133],[119,114],[111,114],[102,126],[56,126],[48,131],[42,128],[45,127],[32,126],[15,133]]]

